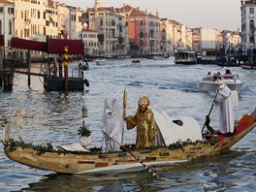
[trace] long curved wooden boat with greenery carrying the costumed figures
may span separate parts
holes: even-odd
[[[91,148],[88,151],[67,151],[54,149],[50,144],[35,146],[16,142],[10,138],[10,127],[5,126],[3,144],[6,156],[18,163],[56,173],[84,174],[140,167],[142,162],[148,166],[165,165],[220,154],[240,142],[255,126],[256,109],[251,114],[242,115],[240,120],[236,121],[236,131],[232,135],[212,135],[208,132],[204,132],[202,135],[200,128],[201,141],[176,142],[144,149],[137,149],[133,147],[134,144],[129,144],[121,145],[122,151],[105,153],[97,148]],[[188,123],[188,127],[190,129],[193,125]],[[194,130],[191,131],[191,134],[195,134]],[[171,135],[173,137],[174,134],[171,133]]]

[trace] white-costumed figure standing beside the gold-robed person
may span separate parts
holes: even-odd
[[[102,123],[102,152],[120,150],[119,144],[123,142],[124,128],[121,102],[116,99],[110,100],[105,98]]]

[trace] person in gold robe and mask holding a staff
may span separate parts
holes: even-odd
[[[147,108],[149,104],[147,97],[140,98],[136,114],[125,118],[128,130],[137,126],[136,147],[139,148],[154,146],[158,134],[154,114]]]

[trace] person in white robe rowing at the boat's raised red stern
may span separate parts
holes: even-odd
[[[232,134],[235,129],[234,106],[238,104],[238,91],[231,91],[224,81],[219,81],[214,105],[219,107],[219,131],[221,134]]]

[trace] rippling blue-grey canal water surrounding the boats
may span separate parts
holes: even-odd
[[[131,59],[107,60],[105,65],[89,63],[84,76],[90,86],[84,91],[46,91],[41,77],[15,74],[14,90],[0,90],[0,123],[13,120],[11,135],[32,144],[74,144],[82,120],[92,131],[93,144],[102,140],[101,118],[104,99],[122,99],[128,91],[127,114],[137,109],[137,101],[146,95],[151,108],[170,116],[188,115],[205,122],[214,93],[199,89],[198,83],[208,71],[224,73],[216,65],[175,65],[173,59],[142,59],[131,65]],[[70,63],[70,68],[76,68]],[[244,82],[239,94],[236,119],[256,107],[256,71],[230,68]],[[82,117],[85,107],[87,117]],[[213,108],[211,125],[217,126],[218,109]],[[2,140],[3,127],[0,127]],[[125,130],[125,144],[135,141],[136,130]],[[142,169],[125,172],[58,175],[40,171],[9,160],[0,144],[0,191],[253,191],[256,188],[256,129],[225,154],[176,165],[153,167],[160,177],[153,178]]]

